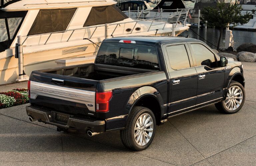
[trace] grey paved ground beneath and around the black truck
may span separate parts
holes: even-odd
[[[25,105],[1,109],[0,165],[256,165],[256,63],[243,64],[246,102],[238,113],[208,106],[173,117],[140,152],[127,150],[119,131],[67,134],[31,123]]]

